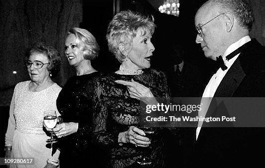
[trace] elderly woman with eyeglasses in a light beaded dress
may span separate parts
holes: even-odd
[[[18,83],[10,104],[10,116],[5,134],[6,158],[32,158],[34,164],[10,164],[10,168],[56,168],[60,152],[51,156],[46,147],[49,139],[43,131],[43,114],[56,108],[61,87],[52,81],[60,70],[58,51],[38,43],[26,55],[25,66],[31,80]],[[32,161],[33,163],[33,161]]]

